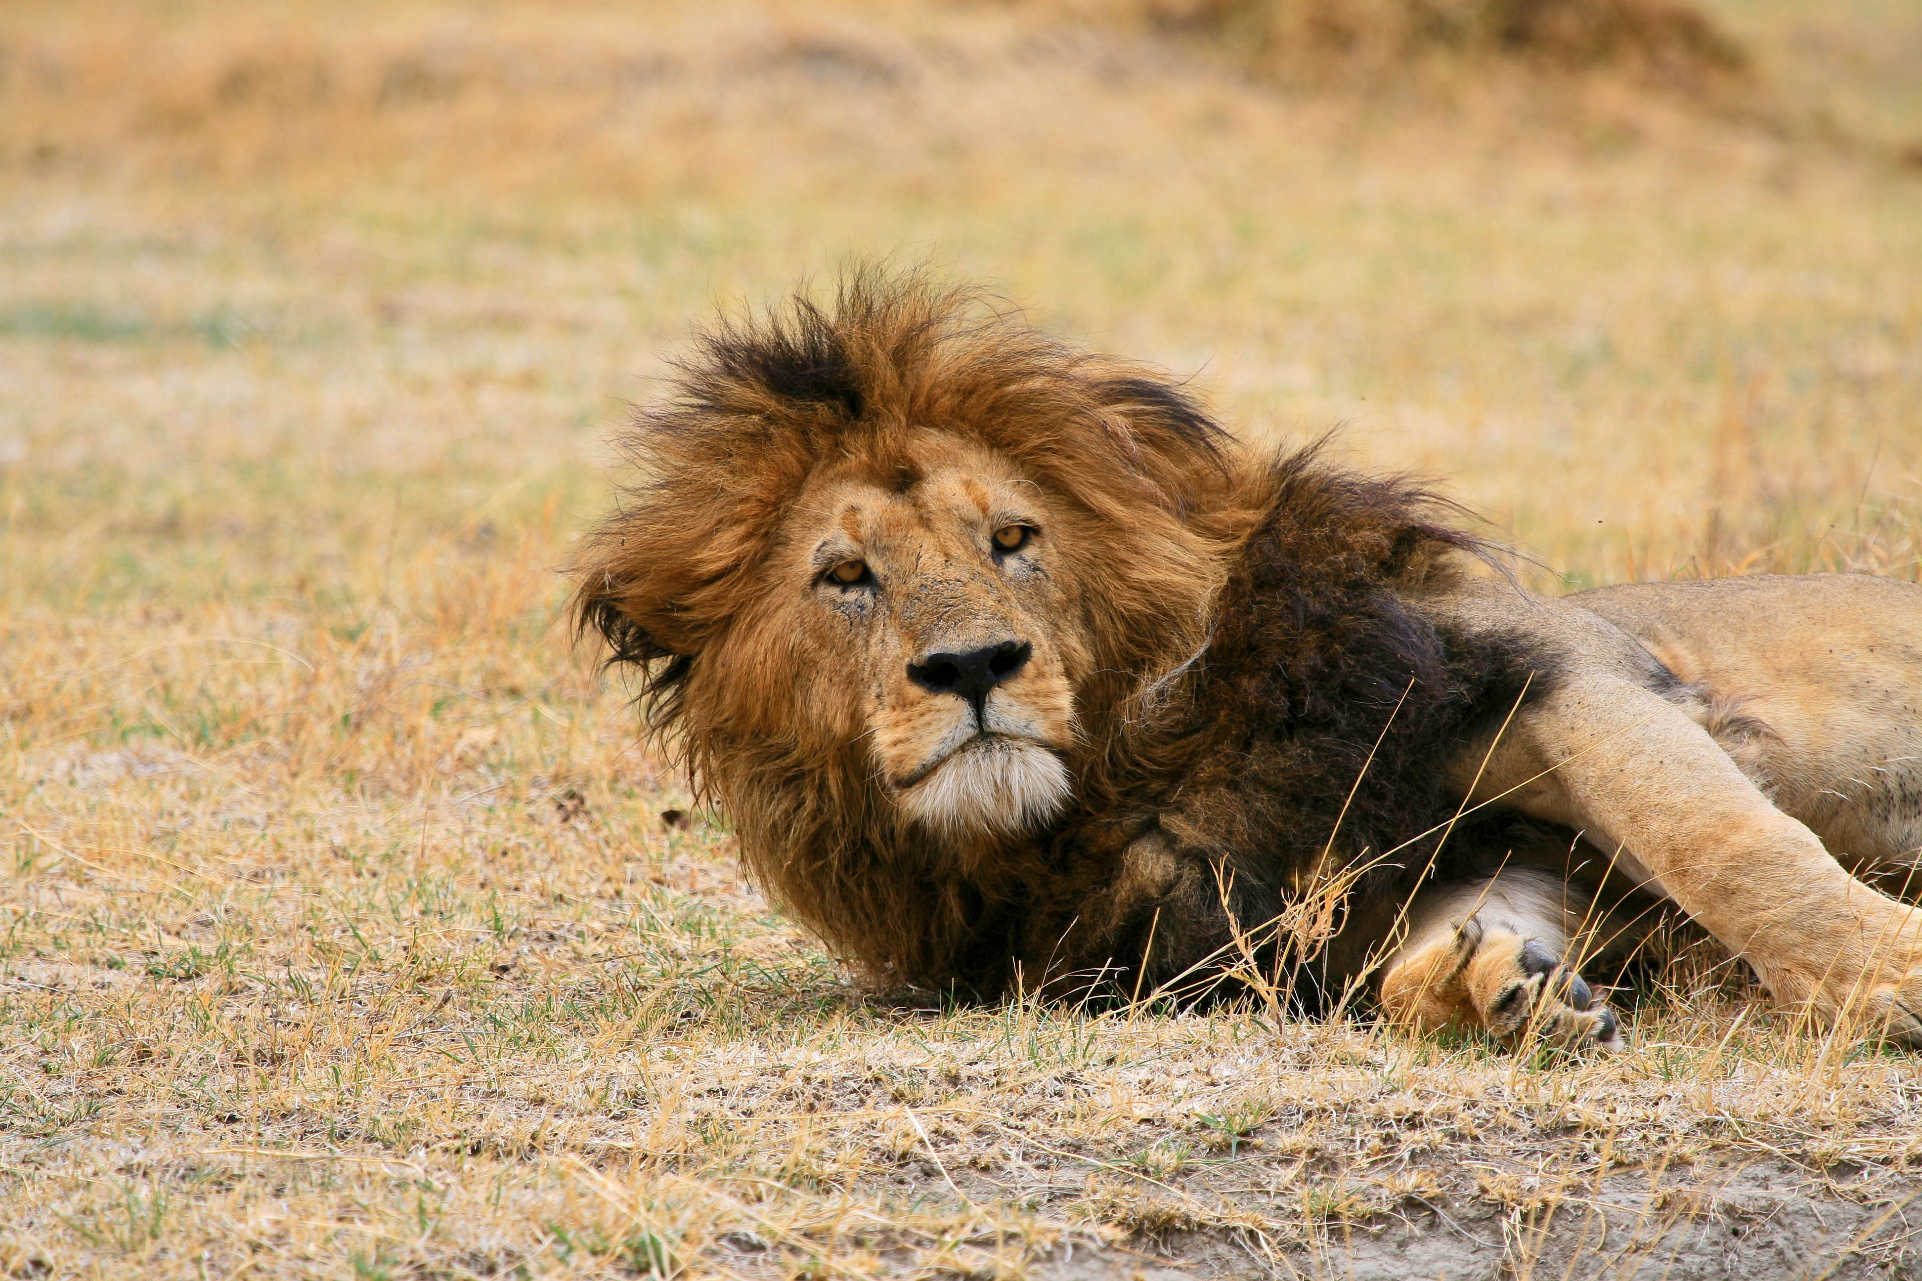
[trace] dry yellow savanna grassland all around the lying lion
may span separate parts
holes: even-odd
[[[1536,586],[1916,578],[1912,6],[1718,0],[1766,92],[1194,13],[0,12],[0,1269],[1922,1271],[1922,1060],[1726,966],[1599,1060],[871,993],[571,647],[625,401],[851,252]]]

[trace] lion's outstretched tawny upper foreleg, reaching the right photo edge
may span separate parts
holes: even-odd
[[[1620,851],[1778,1001],[1922,1047],[1922,912],[1849,876],[1661,695],[1565,682],[1491,749],[1474,799],[1497,797]]]

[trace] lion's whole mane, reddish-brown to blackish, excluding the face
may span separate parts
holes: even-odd
[[[801,714],[792,607],[757,574],[817,467],[886,467],[917,426],[990,446],[1101,532],[1074,801],[965,864]],[[1424,874],[1490,845],[1455,824],[1442,762],[1553,670],[1409,607],[1478,547],[1422,488],[1318,447],[1257,457],[1155,371],[921,277],[857,271],[830,307],[717,321],[621,444],[636,480],[584,544],[580,626],[640,674],[652,732],[727,807],[755,880],[886,981],[1205,978],[1332,882],[1347,893],[1313,945],[1270,931],[1257,960],[1307,958],[1309,989],[1340,989]],[[1144,839],[1147,872],[1126,855]]]

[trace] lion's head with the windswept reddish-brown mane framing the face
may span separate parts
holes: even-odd
[[[702,332],[623,444],[579,616],[761,880],[876,962],[1103,786],[1253,474],[1153,373],[873,271]]]

